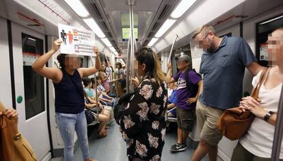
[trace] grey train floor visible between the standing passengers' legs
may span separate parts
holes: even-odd
[[[105,138],[98,138],[97,128],[89,127],[89,146],[90,157],[99,161],[126,161],[126,143],[122,139],[119,126],[113,122],[109,125],[108,136]],[[185,151],[178,153],[171,153],[170,147],[176,143],[176,132],[169,132],[165,136],[165,145],[163,148],[161,160],[189,160],[193,153],[193,149],[187,148]],[[53,158],[52,160],[56,160]],[[57,160],[62,160],[57,158]],[[82,160],[81,149],[75,152],[75,160]],[[207,156],[203,160],[208,160]],[[219,159],[218,159],[219,160]]]

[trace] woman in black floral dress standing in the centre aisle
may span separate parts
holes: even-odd
[[[120,119],[122,137],[126,141],[129,160],[161,160],[165,138],[167,91],[165,75],[157,55],[150,48],[142,48],[135,55],[137,74],[143,76],[124,115]]]

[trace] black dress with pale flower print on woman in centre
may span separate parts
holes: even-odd
[[[155,82],[151,78],[140,83],[120,119],[129,158],[161,160],[167,91]]]

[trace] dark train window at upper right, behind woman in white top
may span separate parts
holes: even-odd
[[[268,65],[267,38],[269,33],[272,33],[279,27],[283,27],[283,15],[265,20],[256,25],[256,59],[258,59],[260,65]]]

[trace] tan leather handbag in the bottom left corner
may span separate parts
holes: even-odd
[[[0,102],[0,111],[6,109]],[[2,161],[36,161],[31,145],[18,132],[18,118],[0,116],[0,160]]]

